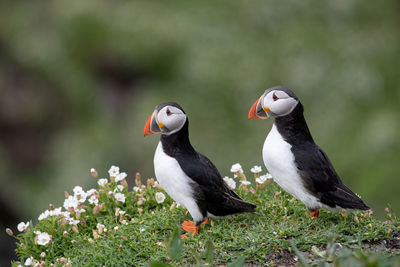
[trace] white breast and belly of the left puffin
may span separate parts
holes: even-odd
[[[187,208],[195,222],[202,221],[203,215],[193,198],[193,188],[189,184],[192,179],[182,171],[176,159],[165,154],[161,142],[158,143],[154,155],[154,172],[165,192]]]

